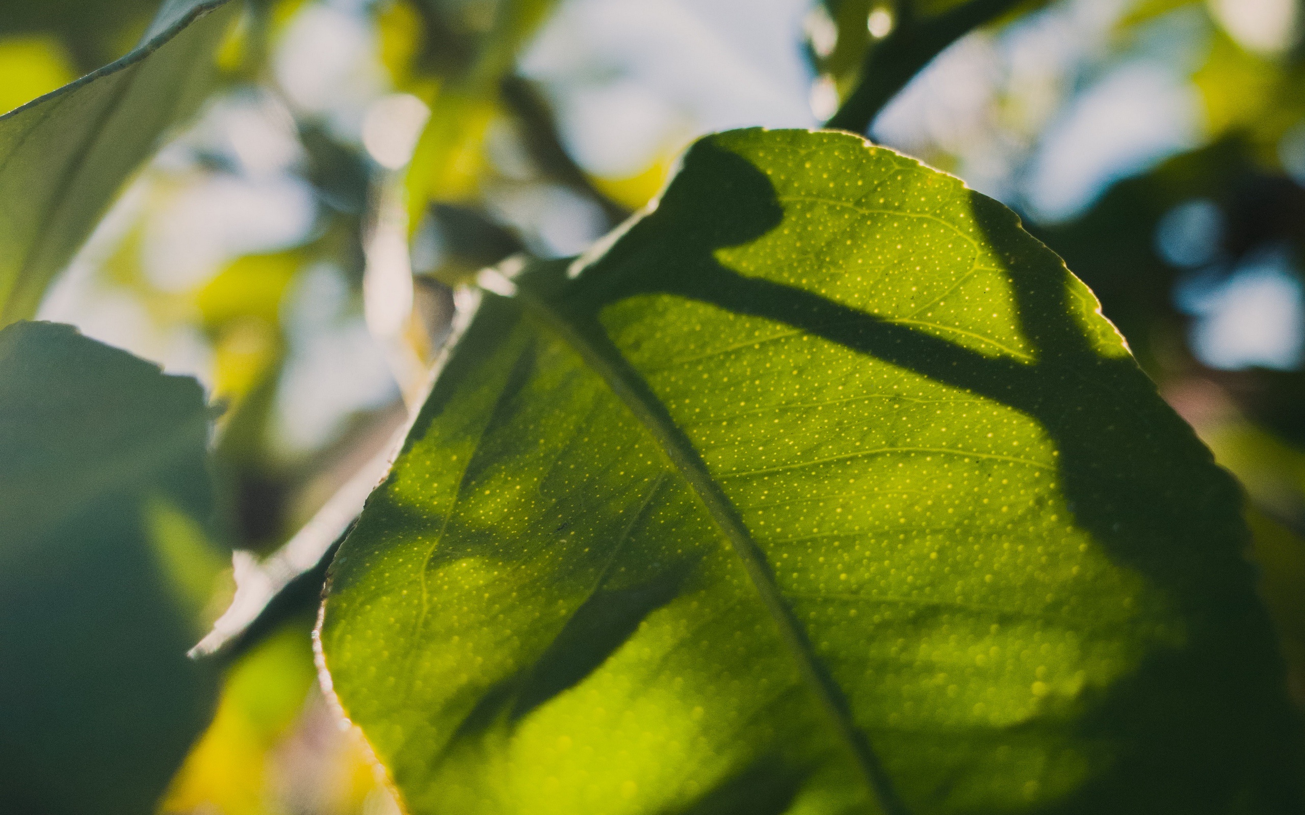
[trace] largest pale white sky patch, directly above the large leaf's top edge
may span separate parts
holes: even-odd
[[[803,0],[566,0],[521,65],[577,160],[629,176],[707,130],[812,126]]]

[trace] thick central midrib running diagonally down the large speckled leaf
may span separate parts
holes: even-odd
[[[543,297],[535,296],[526,286],[519,286],[514,299],[525,305],[523,310],[531,322],[561,339],[603,379],[616,398],[643,425],[669,464],[689,484],[707,515],[741,561],[762,605],[766,606],[779,629],[780,639],[797,662],[803,679],[820,700],[821,708],[838,732],[839,739],[855,756],[873,797],[878,799],[887,815],[910,815],[893,789],[878,756],[874,755],[873,748],[864,738],[859,738],[856,725],[851,721],[847,708],[839,702],[842,689],[833,679],[826,678],[827,674],[822,670],[805,632],[799,627],[784,602],[771,575],[770,565],[752,533],[683,430],[669,416],[663,415],[664,406],[660,400],[656,400],[651,394],[642,393],[647,386],[637,372],[626,370],[629,365],[624,357],[608,359],[603,349],[595,347],[581,331],[576,330]]]

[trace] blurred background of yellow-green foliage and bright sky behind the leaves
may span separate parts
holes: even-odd
[[[0,3],[0,112],[127,52],[155,5]],[[521,250],[579,252],[703,132],[818,126],[899,8],[252,0],[222,90],[39,313],[224,406],[238,554],[210,622],[236,584],[256,609],[347,522],[455,327],[457,284]],[[947,47],[869,136],[1017,210],[1098,293],[1245,485],[1305,699],[1301,16],[1296,0],[1026,3]],[[316,690],[312,622],[305,606],[234,662],[163,811],[397,811]]]

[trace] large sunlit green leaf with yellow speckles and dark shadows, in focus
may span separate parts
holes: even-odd
[[[1237,489],[1009,210],[737,130],[573,271],[484,295],[331,567],[410,811],[1295,811]]]

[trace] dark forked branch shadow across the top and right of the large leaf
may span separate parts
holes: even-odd
[[[1241,553],[1246,532],[1236,482],[1160,403],[1131,356],[1103,355],[1088,327],[1066,317],[1086,318],[1082,304],[1091,295],[1060,258],[996,201],[971,193],[971,206],[1006,262],[1032,364],[984,356],[723,266],[718,249],[761,237],[784,213],[762,171],[711,141],[688,153],[659,209],[600,267],[576,280],[532,283],[551,289],[552,306],[611,355],[602,309],[668,293],[792,326],[1037,421],[1058,450],[1057,477],[1077,526],[1159,587],[1188,626],[1181,651],[1154,652],[1133,678],[1091,699],[1081,738],[1122,754],[1041,811],[1302,811],[1298,789],[1287,781],[1300,763],[1296,717],[1280,692],[1276,644]],[[929,799],[917,785],[902,785],[908,803]]]

